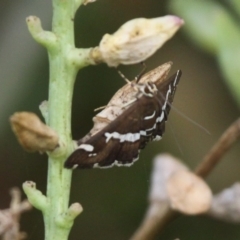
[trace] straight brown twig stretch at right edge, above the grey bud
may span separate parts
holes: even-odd
[[[202,162],[196,168],[195,173],[201,177],[206,177],[222,156],[240,137],[240,119],[234,122],[220,137],[217,143],[212,147],[209,153],[203,158]]]

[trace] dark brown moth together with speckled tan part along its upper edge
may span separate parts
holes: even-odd
[[[93,129],[77,142],[65,167],[131,166],[148,142],[160,140],[181,77],[178,70],[167,79],[170,68],[165,63],[121,88],[104,114],[94,118]]]

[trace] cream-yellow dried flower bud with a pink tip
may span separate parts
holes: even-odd
[[[142,62],[170,39],[183,23],[179,17],[170,15],[133,19],[114,34],[105,34],[98,54],[109,66]]]

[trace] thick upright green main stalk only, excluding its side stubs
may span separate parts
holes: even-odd
[[[74,81],[78,68],[67,58],[74,49],[74,1],[53,0],[52,32],[57,37],[57,47],[48,49],[50,63],[48,125],[60,137],[59,154],[52,154],[48,161],[48,208],[43,211],[45,240],[68,238],[73,221],[66,226],[58,220],[67,212],[72,171],[63,168],[72,149],[71,108]]]

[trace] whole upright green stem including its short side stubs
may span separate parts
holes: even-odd
[[[65,169],[64,161],[74,150],[71,136],[72,95],[79,69],[94,64],[92,49],[76,49],[74,44],[74,14],[81,0],[53,0],[52,31],[44,31],[35,16],[27,18],[32,37],[48,50],[49,96],[40,110],[46,123],[59,136],[59,147],[49,153],[47,194],[28,181],[23,189],[31,204],[41,210],[45,224],[45,240],[67,240],[74,218],[82,211],[79,203],[69,208],[72,171]]]

